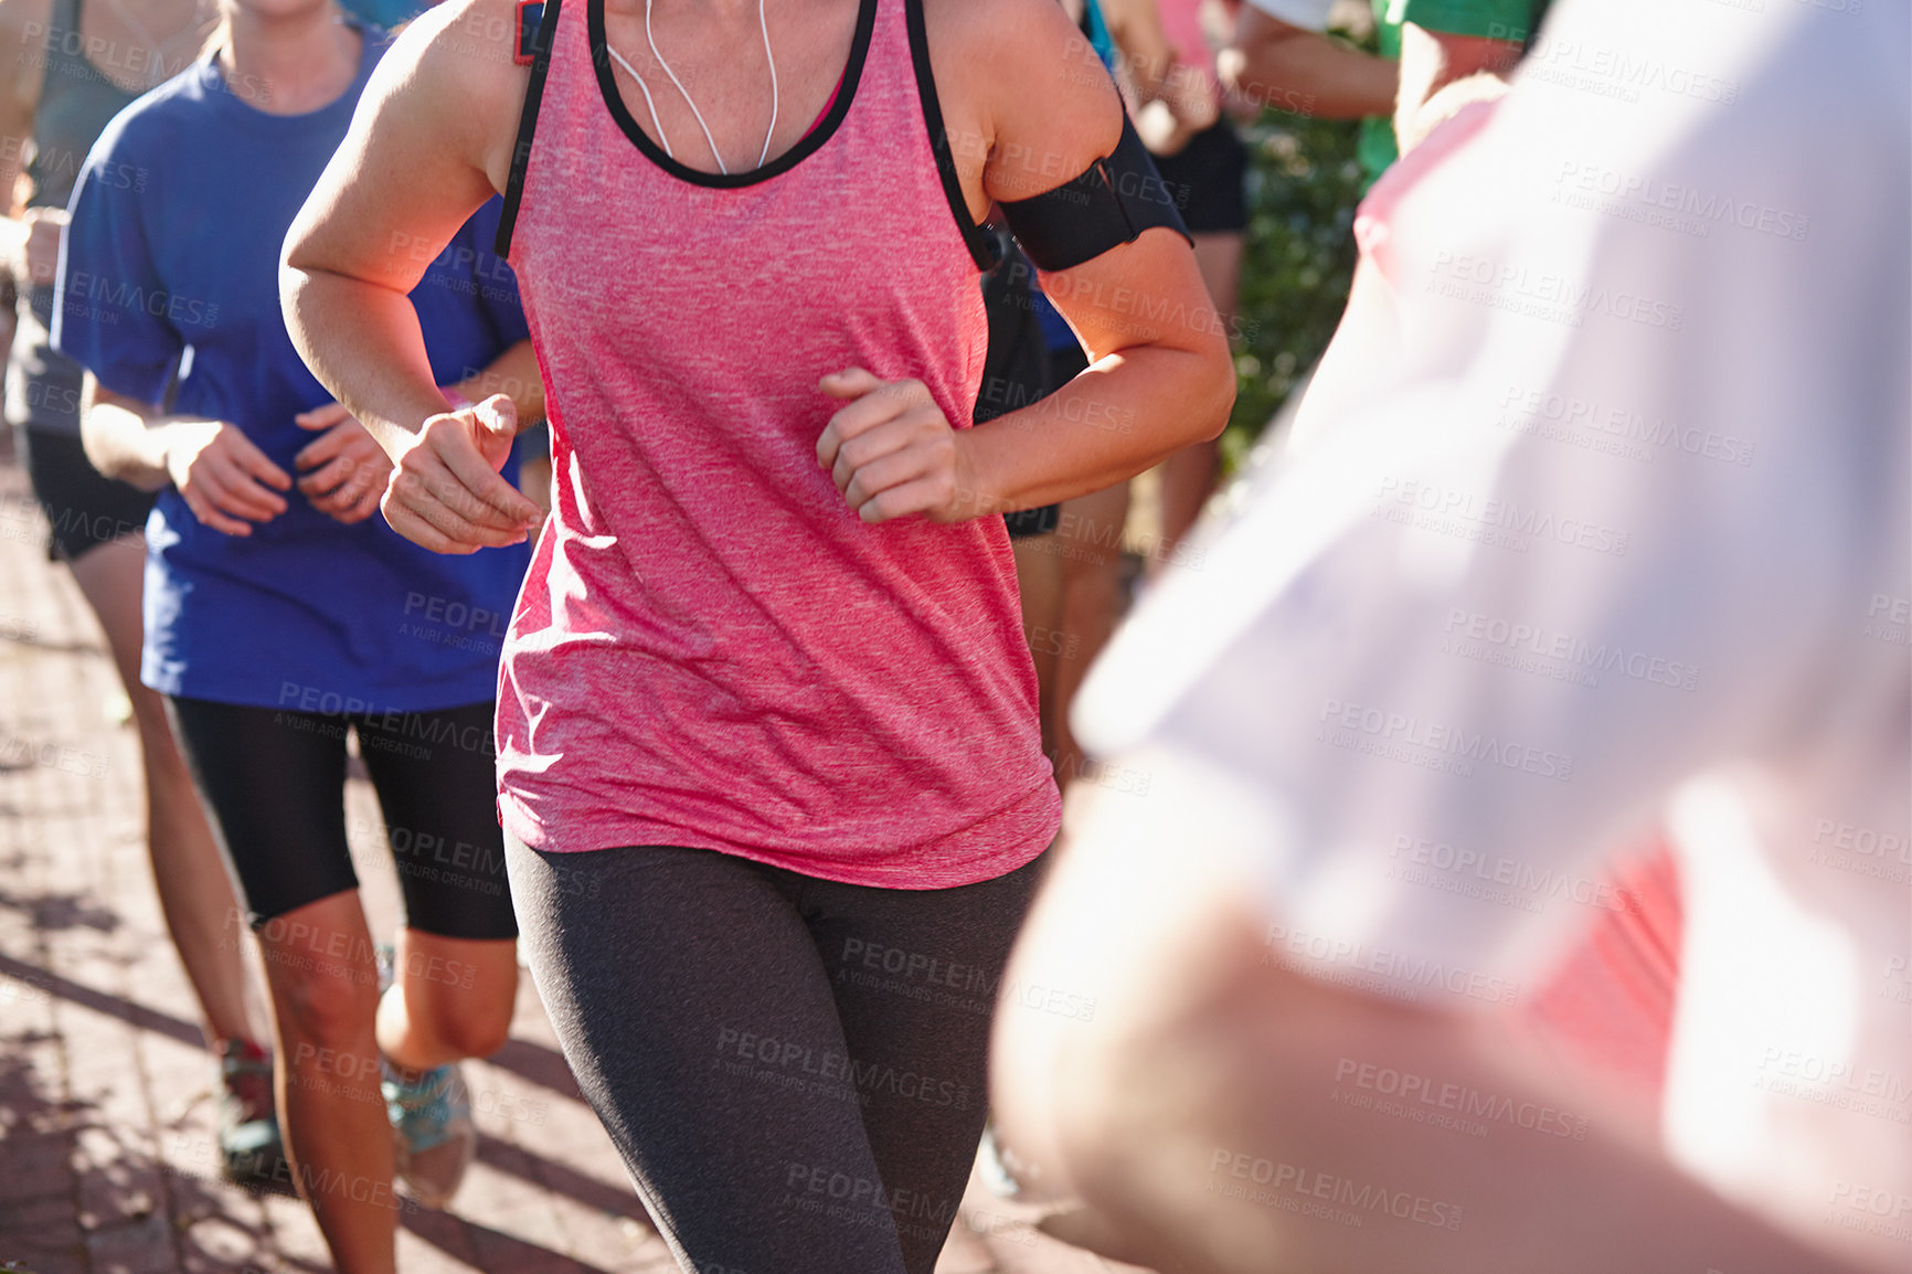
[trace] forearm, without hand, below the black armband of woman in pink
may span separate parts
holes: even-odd
[[[1145,344],[1111,354],[962,434],[977,511],[1036,509],[1124,482],[1220,434],[1233,400],[1233,365],[1212,352]]]

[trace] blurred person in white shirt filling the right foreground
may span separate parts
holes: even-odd
[[[1568,0],[1373,228],[1403,371],[1092,675],[1147,794],[1071,809],[1006,976],[1096,1006],[1000,1012],[996,1111],[1105,1247],[1902,1268],[1906,40]],[[1639,1121],[1510,1018],[1660,819]]]

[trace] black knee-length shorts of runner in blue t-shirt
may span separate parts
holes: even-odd
[[[405,924],[516,937],[497,828],[493,706],[323,715],[170,698],[166,710],[252,928],[358,888],[346,847],[346,731],[379,792]]]

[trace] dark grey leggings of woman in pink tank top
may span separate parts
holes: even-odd
[[[1042,859],[956,890],[505,838],[532,976],[696,1274],[931,1274],[983,1132]]]

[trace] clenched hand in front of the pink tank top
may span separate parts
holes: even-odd
[[[820,384],[845,406],[816,440],[816,463],[857,516],[887,522],[922,513],[931,522],[960,522],[987,513],[962,434],[922,381],[880,381],[847,367]]]

